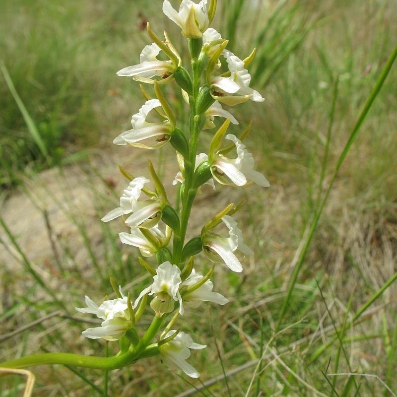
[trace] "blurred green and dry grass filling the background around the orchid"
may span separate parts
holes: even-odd
[[[153,9],[159,9],[161,1],[155,3]],[[244,57],[252,45],[258,47],[253,85],[265,103],[233,111],[243,126],[254,120],[247,145],[272,186],[225,188],[215,198],[220,206],[247,199],[235,216],[255,259],[246,259],[241,275],[215,272],[215,289],[231,300],[226,307],[203,305],[181,322],[208,345],[190,358],[204,388],[154,358],[110,372],[109,396],[395,396],[396,64],[384,81],[382,73],[396,45],[396,5],[386,0],[266,3],[258,11],[267,15],[261,25],[260,17],[251,23],[248,3],[241,8],[239,1],[230,8],[219,3],[215,25],[232,38],[232,51]],[[39,1],[30,9],[20,0],[1,7],[6,12],[0,14],[13,22],[7,25],[1,17],[2,32],[9,32],[0,44],[8,51],[3,62],[49,155],[61,161],[87,146],[105,150],[105,156],[112,153],[106,146],[128,127],[141,103],[136,84],[115,77],[119,68],[135,63],[146,40],[136,31],[132,2],[105,8],[94,2],[51,7]],[[144,13],[151,17],[153,9]],[[152,27],[159,33],[165,20],[157,19]],[[168,22],[166,29],[177,32]],[[47,163],[5,81],[0,84],[0,139],[6,153],[1,184],[18,181],[45,219],[43,203],[33,195],[38,180],[21,181],[32,164],[42,169]],[[377,87],[379,92],[373,91]],[[62,148],[59,155],[57,148]],[[97,301],[110,295],[109,276],[135,292],[147,284],[136,253],[117,241],[120,224],[99,222],[120,193],[119,186],[113,191],[100,156],[88,157],[92,167],[77,166],[81,185],[92,192],[89,214],[67,190],[74,168],[61,171],[65,191],[60,197],[45,188],[71,221],[70,234],[84,247],[83,259],[76,256],[76,240],[51,224],[51,214],[47,229],[55,246],[49,263],[32,263],[21,236],[3,245],[19,250],[25,267],[10,272],[0,265],[2,333],[45,320],[1,340],[1,361],[45,350],[106,354],[104,343],[78,336],[87,323],[73,308],[81,307],[84,294]],[[171,156],[167,149],[162,152],[164,165]],[[112,180],[123,188],[117,161]],[[126,169],[136,162],[135,156]],[[166,168],[164,173],[172,174]],[[211,200],[209,195],[200,199],[193,216],[213,215]],[[23,215],[23,209],[15,211]],[[4,222],[1,236],[11,226]],[[94,226],[97,234],[91,232]],[[109,354],[113,348],[109,344]],[[51,396],[54,390],[60,396],[103,395],[101,372],[59,366],[32,370],[37,395]]]

